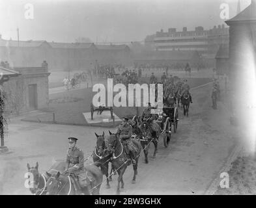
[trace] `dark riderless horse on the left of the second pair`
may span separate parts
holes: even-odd
[[[108,168],[109,168],[109,162],[111,160],[111,155],[107,151],[107,144],[108,141],[105,140],[105,133],[103,132],[102,135],[96,135],[97,141],[96,141],[96,147],[94,151],[92,151],[92,159],[93,162],[101,162],[104,166],[102,169],[102,173],[106,175],[107,178],[107,185],[106,188],[110,188],[109,181],[112,181],[111,174],[109,176],[108,174]],[[113,166],[111,165],[111,171],[110,173],[113,172]]]

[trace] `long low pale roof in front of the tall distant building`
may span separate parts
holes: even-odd
[[[135,55],[136,60],[192,60],[199,58],[197,51],[152,51]]]

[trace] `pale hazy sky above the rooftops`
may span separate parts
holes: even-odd
[[[170,27],[211,29],[227,20],[220,17],[223,3],[233,18],[238,0],[0,0],[0,34],[17,40],[19,27],[20,40],[75,42],[87,37],[122,44]],[[241,10],[250,3],[240,0]],[[26,17],[27,4],[33,5],[32,19]]]

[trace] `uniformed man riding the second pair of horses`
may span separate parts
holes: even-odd
[[[122,123],[117,129],[117,135],[119,135],[119,140],[122,142],[122,144],[124,144],[124,148],[126,148],[126,153],[130,154],[132,164],[136,164],[134,148],[132,148],[131,140],[132,125],[128,123],[128,118],[123,117]]]

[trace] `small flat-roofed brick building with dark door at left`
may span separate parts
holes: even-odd
[[[8,77],[3,83],[7,93],[8,112],[20,114],[49,106],[48,64],[40,67],[14,67],[7,64],[0,66],[0,72]]]

